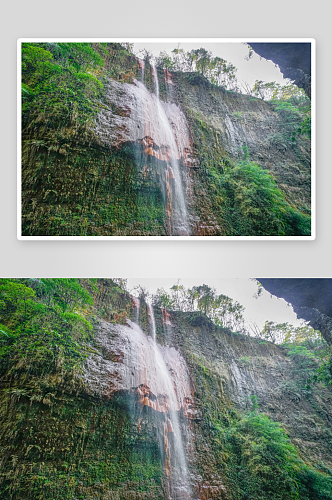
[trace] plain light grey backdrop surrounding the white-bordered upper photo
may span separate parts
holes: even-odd
[[[0,276],[331,277],[331,2],[10,0],[2,4]],[[294,37],[317,41],[315,241],[18,241],[16,40]]]

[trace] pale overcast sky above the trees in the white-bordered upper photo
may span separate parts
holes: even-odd
[[[161,51],[170,53],[178,46],[177,43],[147,43],[135,42],[134,51],[136,54],[142,49],[147,49],[157,56]],[[283,78],[279,67],[275,66],[272,61],[261,59],[255,52],[249,61],[245,59],[248,56],[248,47],[243,43],[225,42],[225,43],[206,43],[204,41],[198,43],[180,43],[180,48],[185,51],[199,49],[204,47],[212,52],[214,56],[221,57],[227,62],[234,64],[237,68],[237,79],[241,82],[247,82],[252,88],[256,80],[265,82],[277,82],[285,85],[287,80]]]

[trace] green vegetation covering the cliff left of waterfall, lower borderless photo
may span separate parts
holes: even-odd
[[[133,401],[84,392],[96,316],[121,322],[132,314],[122,286],[0,280],[1,498],[85,499],[121,494],[124,484],[139,498],[161,497],[159,448],[146,449],[145,434],[133,434]]]

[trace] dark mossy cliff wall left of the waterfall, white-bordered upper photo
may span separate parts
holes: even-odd
[[[23,153],[24,235],[166,234],[162,167],[153,163],[143,176],[136,147],[30,148]]]

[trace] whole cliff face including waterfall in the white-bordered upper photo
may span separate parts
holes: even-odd
[[[109,45],[93,122],[75,111],[55,123],[47,108],[26,118],[24,235],[308,234],[310,141],[292,136],[296,113]]]

